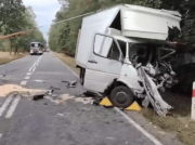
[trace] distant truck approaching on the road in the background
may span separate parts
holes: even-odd
[[[40,42],[31,42],[30,43],[30,55],[39,54],[42,55],[43,53],[43,44]]]

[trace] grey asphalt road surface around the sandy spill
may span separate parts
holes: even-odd
[[[52,53],[26,56],[0,67],[0,84],[25,88],[56,87],[54,96],[78,96],[84,89],[67,89],[62,81],[78,80]],[[62,104],[43,98],[0,97],[0,145],[154,145],[115,109],[67,100]]]

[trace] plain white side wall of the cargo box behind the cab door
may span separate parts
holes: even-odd
[[[118,11],[119,8],[114,8],[83,18],[76,56],[78,66],[87,66],[89,55],[93,52],[95,34],[106,34]]]

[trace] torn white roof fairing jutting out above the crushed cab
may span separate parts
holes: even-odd
[[[121,11],[122,35],[126,37],[166,40],[168,28],[180,29],[178,12],[128,5]]]

